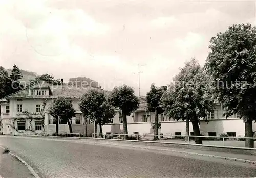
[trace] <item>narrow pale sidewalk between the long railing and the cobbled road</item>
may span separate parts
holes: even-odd
[[[223,157],[227,160],[234,160],[234,161],[241,161],[248,160],[249,162],[254,162],[256,164],[256,156],[255,155],[245,155],[245,154],[237,154],[233,152],[219,152],[219,151],[208,151],[208,150],[198,150],[198,149],[185,149],[185,148],[170,148],[170,147],[162,147],[162,146],[145,146],[145,145],[139,145],[138,143],[134,142],[133,144],[125,144],[125,143],[111,143],[106,142],[105,140],[98,140],[94,142],[94,140],[84,140],[83,142],[90,142],[95,144],[106,144],[106,145],[116,145],[116,146],[126,146],[126,147],[135,147],[135,148],[146,148],[146,149],[156,149],[163,151],[173,151],[173,152],[183,152],[184,154],[193,154],[193,155],[201,155],[201,156],[208,156],[208,157]],[[234,158],[234,159],[231,159]],[[248,162],[247,161],[247,162]]]

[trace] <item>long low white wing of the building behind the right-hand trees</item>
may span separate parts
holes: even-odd
[[[215,109],[209,113],[207,122],[201,119],[200,132],[205,136],[219,136],[227,134],[229,136],[244,137],[245,125],[243,119],[238,114],[226,118],[223,116],[225,108],[221,104],[216,104]],[[186,121],[176,121],[159,114],[159,133],[163,135],[186,135]],[[153,134],[154,133],[155,113],[147,110],[146,97],[140,97],[140,107],[131,116],[127,116],[128,133]],[[121,115],[113,119],[113,123],[102,127],[103,133],[119,133],[123,130]],[[189,123],[190,135],[193,135],[193,126]],[[256,123],[253,123],[253,131],[256,132]]]

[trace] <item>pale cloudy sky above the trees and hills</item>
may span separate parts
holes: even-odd
[[[234,23],[255,24],[254,1],[0,0],[0,65],[87,77],[141,95],[166,85],[209,40]]]

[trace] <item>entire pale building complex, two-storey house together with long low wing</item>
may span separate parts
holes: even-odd
[[[89,89],[67,85],[49,85],[46,82],[41,82],[33,87],[25,88],[6,96],[0,100],[1,132],[5,135],[54,133],[55,119],[46,112],[41,113],[41,110],[46,110],[48,104],[53,99],[65,97],[72,101],[76,110],[76,117],[72,118],[73,133],[83,134],[84,118],[79,110],[78,101]],[[139,109],[131,113],[131,116],[127,116],[128,133],[154,133],[153,125],[155,115],[147,110],[146,98],[139,97],[139,99]],[[208,122],[201,121],[201,133],[209,136],[218,136],[223,133],[230,136],[244,136],[245,126],[243,119],[239,119],[238,115],[233,115],[226,119],[223,116],[224,110],[221,104],[217,104],[215,110],[209,114]],[[24,114],[24,111],[27,111],[27,113]],[[117,112],[111,120],[112,123],[102,126],[103,133],[121,133],[123,131],[121,112]],[[185,121],[176,121],[166,117],[164,114],[160,114],[159,122],[161,124],[159,133],[166,135],[185,135]],[[88,134],[93,133],[93,125],[87,124],[87,131]],[[253,123],[253,131],[256,131],[255,123]],[[68,124],[61,123],[60,121],[59,133],[63,132],[69,132]],[[97,132],[99,132],[99,127],[97,128]],[[190,134],[193,135],[191,124]]]

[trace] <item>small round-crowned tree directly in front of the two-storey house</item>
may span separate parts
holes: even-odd
[[[68,122],[69,132],[73,133],[70,120],[75,117],[75,109],[71,101],[65,98],[58,98],[49,105],[47,113],[56,119],[56,133],[59,132],[59,120]]]

